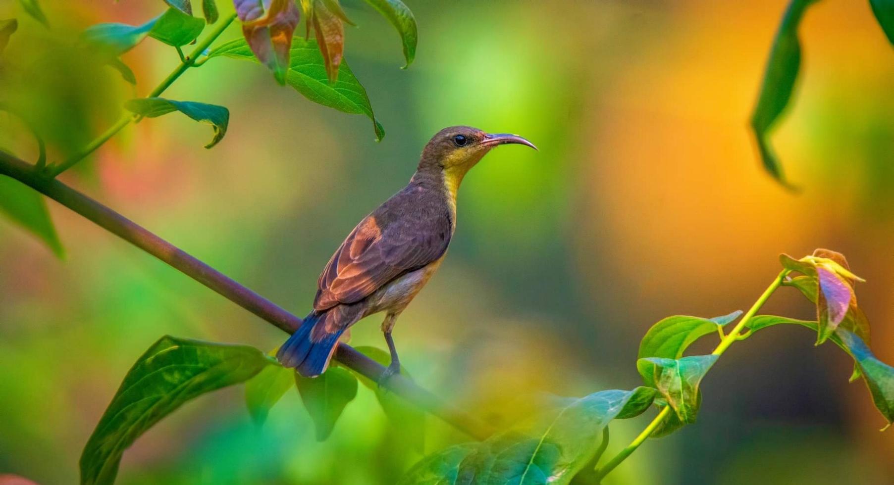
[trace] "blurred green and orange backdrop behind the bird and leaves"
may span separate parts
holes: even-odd
[[[222,8],[232,8],[219,2]],[[420,41],[367,4],[346,59],[387,136],[314,105],[251,63],[214,59],[166,97],[225,105],[226,138],[181,115],[125,129],[62,179],[192,255],[306,314],[316,277],[358,220],[401,188],[436,130],[519,133],[539,152],[488,155],[460,191],[450,257],[395,339],[424,387],[494,423],[540,392],[632,389],[639,339],[671,314],[746,309],[777,255],[830,247],[857,288],[873,349],[894,362],[894,51],[866,2],[807,13],[802,76],[774,135],[792,193],[759,166],[746,120],[786,2],[409,0]],[[105,130],[178,62],[148,40],[125,54],[136,93],[72,54],[100,21],[141,23],[159,0],[42,2],[4,71],[49,130],[51,160]],[[198,6],[197,6],[198,8]],[[223,39],[237,38],[234,25]],[[69,46],[69,47],[66,47]],[[0,146],[33,157],[0,115]],[[50,203],[66,250],[0,221],[0,473],[77,480],[80,449],[132,362],[163,334],[276,347],[283,333],[77,214]],[[782,289],[768,312],[813,318]],[[383,347],[379,317],[351,343]],[[894,433],[851,361],[800,328],[734,346],[704,380],[699,422],[649,441],[606,483],[890,483]],[[705,348],[708,344],[705,343]],[[713,344],[712,344],[713,345]],[[648,417],[614,422],[609,454]],[[434,418],[426,453],[465,439]],[[422,455],[361,388],[318,443],[296,392],[257,429],[242,388],[191,402],[131,447],[120,483],[392,483]]]

